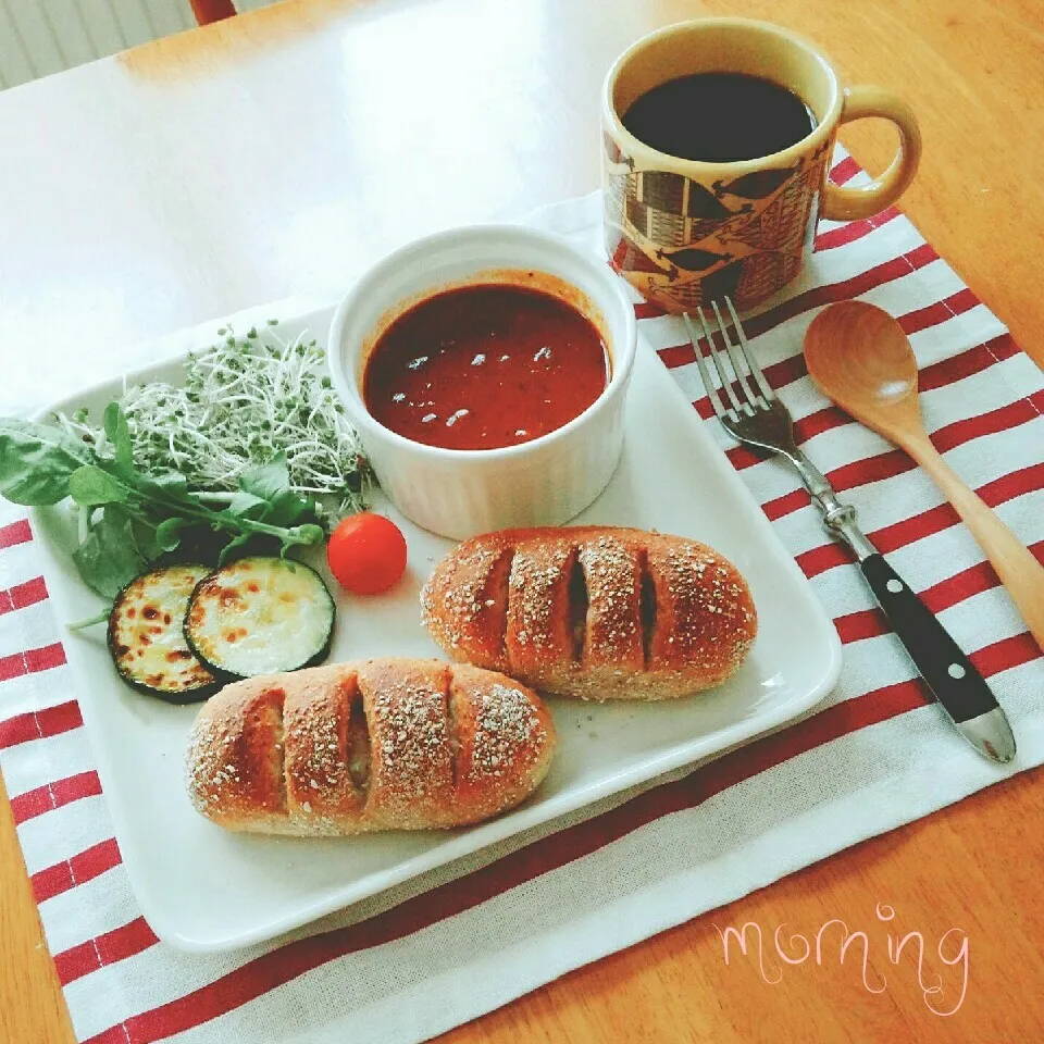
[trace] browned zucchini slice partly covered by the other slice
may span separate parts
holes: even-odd
[[[185,610],[208,566],[167,566],[132,580],[109,613],[109,652],[120,676],[169,704],[194,704],[219,679],[185,641]]]

